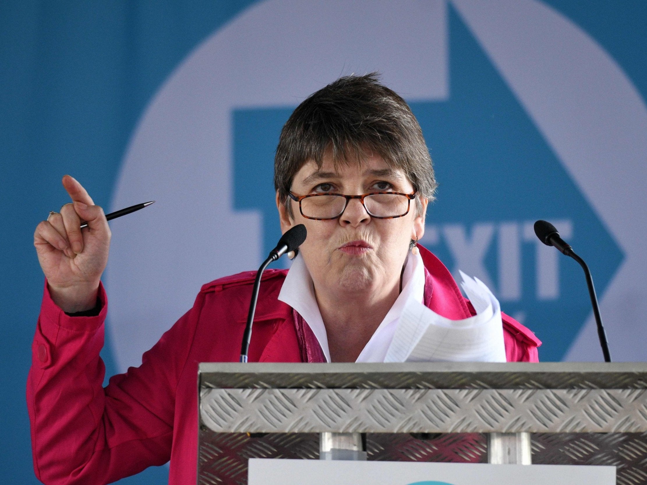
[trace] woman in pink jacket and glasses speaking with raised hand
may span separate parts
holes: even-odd
[[[256,272],[204,285],[142,364],[104,388],[100,277],[111,233],[85,189],[69,176],[63,185],[72,202],[34,234],[46,277],[27,385],[36,475],[105,484],[170,460],[171,484],[195,484],[197,366],[239,360]],[[406,102],[374,74],[340,78],[296,108],[274,186],[282,232],[305,224],[307,239],[289,271],[263,275],[249,361],[384,361],[410,298],[450,319],[475,314],[417,244],[432,160]],[[501,320],[507,360],[536,361],[534,334]]]

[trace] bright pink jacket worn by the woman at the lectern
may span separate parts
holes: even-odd
[[[424,248],[425,304],[452,319],[474,314],[443,264]],[[71,317],[45,294],[27,382],[34,470],[45,484],[105,484],[170,464],[169,483],[193,485],[197,468],[199,362],[237,361],[256,272],[204,285],[193,307],[142,356],[102,387],[107,298],[98,316]],[[285,270],[267,270],[249,360],[322,361],[309,327],[278,301]],[[537,361],[540,341],[503,315],[508,361]]]

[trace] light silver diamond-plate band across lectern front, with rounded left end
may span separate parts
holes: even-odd
[[[204,389],[217,433],[637,433],[644,389]]]

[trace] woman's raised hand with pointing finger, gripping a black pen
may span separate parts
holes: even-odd
[[[72,203],[36,226],[34,246],[54,303],[72,313],[96,304],[111,232],[104,210],[94,205],[79,182],[65,175],[63,187]],[[82,221],[87,228],[80,228]]]

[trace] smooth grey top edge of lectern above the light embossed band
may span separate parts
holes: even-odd
[[[201,363],[200,386],[241,389],[647,389],[647,363]]]

